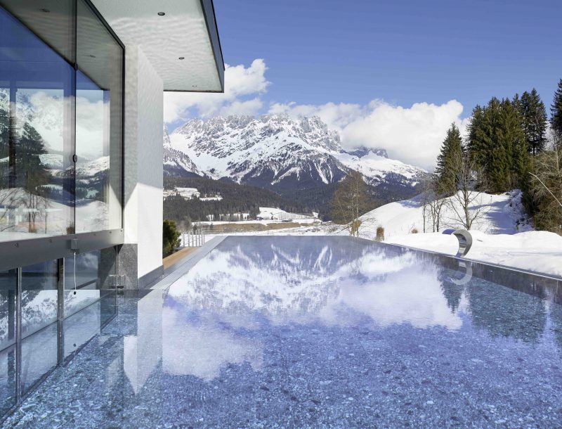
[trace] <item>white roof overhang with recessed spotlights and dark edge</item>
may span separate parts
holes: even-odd
[[[142,49],[162,77],[164,91],[224,91],[213,0],[91,2],[125,46]]]

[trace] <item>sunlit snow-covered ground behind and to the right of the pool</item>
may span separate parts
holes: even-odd
[[[467,259],[501,264],[562,277],[562,237],[546,231],[532,231],[523,214],[521,193],[514,191],[500,195],[481,194],[475,210],[481,210],[471,229],[474,238]],[[461,228],[453,210],[446,208],[440,231]],[[378,207],[362,216],[362,238],[374,239],[377,226],[384,227],[385,243],[455,255],[458,244],[454,236],[431,232],[426,220],[424,233],[421,198],[398,201]],[[417,229],[418,233],[411,233]],[[274,231],[249,231],[237,235],[348,235],[342,226],[331,222],[315,223],[298,228]],[[211,238],[210,236],[207,239]]]

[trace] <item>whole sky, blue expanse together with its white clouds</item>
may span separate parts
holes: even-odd
[[[225,94],[164,96],[192,117],[318,115],[344,148],[432,169],[452,122],[562,78],[562,0],[214,0]]]

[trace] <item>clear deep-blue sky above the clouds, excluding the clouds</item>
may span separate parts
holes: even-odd
[[[562,77],[562,2],[215,0],[225,61],[263,58],[266,99],[321,104],[456,99],[463,116],[491,96]]]

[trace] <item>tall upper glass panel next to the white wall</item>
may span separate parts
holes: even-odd
[[[77,4],[77,232],[121,228],[123,49]]]

